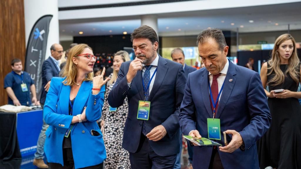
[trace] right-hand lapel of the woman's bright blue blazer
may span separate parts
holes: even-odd
[[[90,92],[88,92],[87,90],[91,90],[91,84],[92,83],[90,81],[82,82],[82,85],[80,86],[73,103],[73,115],[81,114],[81,110],[85,106],[90,95]]]

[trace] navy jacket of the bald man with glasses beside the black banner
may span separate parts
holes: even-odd
[[[47,91],[44,89],[45,85],[51,80],[51,78],[59,76],[59,73],[60,71],[54,61],[51,59],[51,57],[48,57],[48,59],[46,59],[42,65],[42,91],[40,103],[44,104],[46,100]]]

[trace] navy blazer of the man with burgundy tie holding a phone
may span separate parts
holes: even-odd
[[[207,118],[213,118],[213,112],[209,100],[208,71],[205,68],[188,75],[179,118],[184,135],[197,130],[201,136],[208,138]],[[219,151],[223,167],[258,169],[256,141],[270,127],[271,115],[257,72],[234,65],[229,60],[216,118],[220,119],[221,128],[221,140],[216,140],[218,143],[225,146],[222,132],[235,130],[240,133],[245,145],[244,151]],[[212,149],[212,146],[195,146],[193,167],[207,169]]]

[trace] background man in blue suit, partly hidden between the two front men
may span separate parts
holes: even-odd
[[[172,61],[178,62],[183,65],[186,78],[188,77],[189,73],[197,70],[196,68],[185,64],[185,55],[181,48],[175,48],[174,50],[172,50],[171,58],[172,58]],[[181,136],[182,136],[182,131],[180,129],[180,152],[177,154],[177,159],[175,161],[174,169],[181,169],[181,153],[182,153],[182,137]],[[192,164],[193,146],[190,146],[188,144],[187,149],[188,149],[188,155],[189,155],[188,159],[189,159],[190,163]]]

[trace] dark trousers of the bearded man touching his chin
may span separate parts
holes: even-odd
[[[148,143],[147,138],[141,133],[137,152],[130,152],[132,169],[173,169],[176,160],[175,155],[157,155]]]

